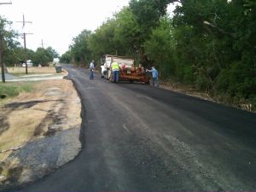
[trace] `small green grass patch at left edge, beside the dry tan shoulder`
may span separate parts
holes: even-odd
[[[32,83],[0,83],[0,99],[18,96],[20,92],[32,90]]]

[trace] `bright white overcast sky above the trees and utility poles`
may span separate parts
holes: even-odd
[[[129,0],[0,0],[0,15],[13,21],[12,28],[26,35],[26,48],[36,50],[51,46],[60,55],[84,29],[95,31],[113,13],[129,4]],[[22,15],[26,23],[22,29]],[[20,42],[23,39],[20,38]],[[22,44],[23,46],[23,44]]]

